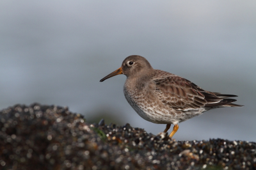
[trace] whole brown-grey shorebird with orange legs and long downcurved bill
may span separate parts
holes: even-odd
[[[125,58],[118,70],[100,82],[121,73],[127,76],[124,84],[127,102],[141,118],[152,123],[167,124],[164,132],[167,132],[170,124],[178,129],[177,123],[189,120],[204,111],[218,107],[242,106],[232,104],[236,100],[228,98],[236,95],[205,91],[187,79],[162,70],[154,70],[147,59],[141,56]],[[173,131],[177,130],[173,128]]]

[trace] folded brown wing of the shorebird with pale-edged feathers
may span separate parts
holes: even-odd
[[[170,76],[154,79],[156,94],[164,105],[176,110],[192,110],[201,107],[221,107],[235,102],[235,99],[224,99],[228,95],[212,93],[196,86],[193,82],[171,74]],[[232,96],[233,97],[233,96]]]

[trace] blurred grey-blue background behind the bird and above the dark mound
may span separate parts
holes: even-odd
[[[91,122],[158,134],[165,125],[125,100],[125,75],[99,82],[138,54],[245,105],[180,123],[175,139],[256,141],[255,9],[256,1],[0,1],[0,109],[68,106]]]

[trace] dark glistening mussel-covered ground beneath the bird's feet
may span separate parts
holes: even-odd
[[[175,141],[89,124],[65,107],[14,105],[0,112],[0,169],[256,169],[256,143]]]

